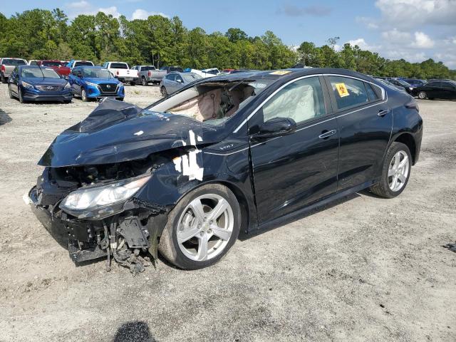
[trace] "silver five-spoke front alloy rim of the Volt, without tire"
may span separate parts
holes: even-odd
[[[233,233],[234,214],[227,199],[207,194],[190,202],[177,225],[177,244],[185,257],[204,261],[217,257]]]

